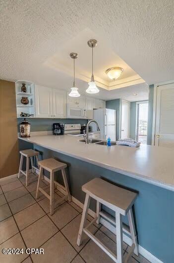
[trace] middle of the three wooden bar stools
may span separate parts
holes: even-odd
[[[39,198],[39,191],[41,191],[50,200],[50,214],[53,215],[54,206],[55,206],[54,204],[54,184],[57,183],[55,181],[54,175],[55,175],[55,172],[59,170],[61,170],[61,174],[62,174],[63,182],[64,182],[64,187],[61,186],[61,188],[63,188],[63,190],[65,190],[67,194],[63,196],[62,198],[60,198],[58,200],[58,203],[64,200],[66,197],[68,198],[69,202],[71,201],[71,195],[69,192],[69,186],[68,186],[67,178],[65,174],[65,168],[67,167],[67,165],[60,163],[53,158],[39,161],[39,165],[40,165],[40,172],[39,172],[39,179],[38,179],[38,185],[37,185],[37,190],[36,190],[36,199]],[[39,187],[40,179],[43,174],[43,169],[50,172],[50,195],[47,192],[45,192],[41,187]]]

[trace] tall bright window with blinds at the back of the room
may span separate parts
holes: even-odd
[[[147,144],[148,101],[136,104],[136,141]]]

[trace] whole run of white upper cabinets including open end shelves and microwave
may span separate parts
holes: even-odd
[[[28,81],[17,81],[15,85],[17,117],[27,113],[36,118],[93,119],[93,109],[105,108],[105,101],[101,99],[70,97],[64,90]]]

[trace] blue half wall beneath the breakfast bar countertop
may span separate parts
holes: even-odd
[[[25,146],[25,142],[23,141],[23,148],[25,147],[27,149],[28,144]],[[33,147],[32,144],[30,144],[31,147]],[[67,164],[66,174],[71,187],[71,193],[82,203],[84,203],[85,193],[81,190],[81,186],[94,177],[102,177],[123,188],[138,192],[133,212],[139,245],[164,263],[174,262],[173,191],[118,174],[38,145],[34,145],[34,149],[42,152],[42,158],[44,159],[53,157]],[[57,173],[56,176],[58,175]],[[90,208],[95,211],[96,203],[94,200],[91,202]],[[105,207],[103,209],[105,210]],[[114,211],[108,211],[114,215]],[[123,221],[127,222],[126,218]]]

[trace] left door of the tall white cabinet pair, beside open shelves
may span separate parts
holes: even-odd
[[[52,88],[35,85],[35,111],[36,118],[53,117]]]

